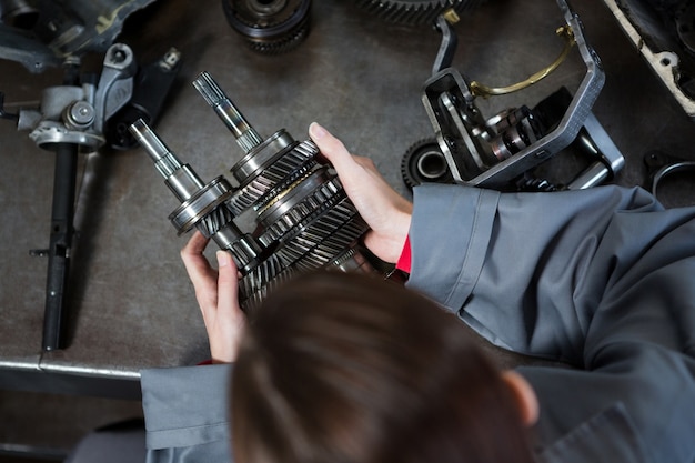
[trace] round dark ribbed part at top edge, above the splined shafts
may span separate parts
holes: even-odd
[[[309,34],[311,0],[222,0],[228,22],[251,49],[289,51]]]

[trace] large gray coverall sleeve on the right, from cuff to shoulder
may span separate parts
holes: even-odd
[[[410,239],[411,289],[500,346],[574,366],[520,368],[542,445],[620,421],[622,439],[597,431],[587,445],[695,461],[695,209],[664,210],[638,188],[423,185]],[[593,461],[622,461],[604,456]]]

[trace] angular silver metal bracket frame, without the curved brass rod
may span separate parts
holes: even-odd
[[[527,145],[513,155],[501,162],[486,158],[488,123],[475,107],[471,82],[459,71],[445,68],[425,82],[422,101],[457,183],[486,188],[507,184],[570,145],[590,117],[605,80],[601,60],[584,39],[578,17],[564,0],[557,0],[557,4],[586,72],[560,122],[541,138],[534,140],[530,134]]]

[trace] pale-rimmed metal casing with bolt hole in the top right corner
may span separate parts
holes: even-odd
[[[695,3],[603,0],[655,76],[695,119]]]

